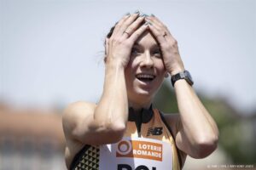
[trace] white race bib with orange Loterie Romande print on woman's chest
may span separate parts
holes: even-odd
[[[172,145],[155,139],[124,138],[100,147],[99,170],[172,169]]]

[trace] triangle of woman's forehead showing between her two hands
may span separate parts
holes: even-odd
[[[137,38],[135,44],[148,48],[158,46],[158,42],[150,31],[144,31],[143,34]]]

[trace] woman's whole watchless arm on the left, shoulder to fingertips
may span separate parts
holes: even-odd
[[[98,105],[78,102],[67,107],[63,128],[67,138],[82,144],[115,143],[123,137],[128,118],[125,66],[133,43],[148,26],[140,26],[144,17],[124,16],[106,39],[107,61],[102,97]],[[128,34],[124,31],[130,31]],[[68,135],[69,134],[69,135]]]

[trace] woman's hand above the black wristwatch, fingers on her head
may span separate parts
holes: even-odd
[[[148,16],[146,20],[151,23],[148,27],[160,43],[166,71],[168,71],[171,76],[184,71],[183,61],[177,48],[177,40],[172,37],[167,27],[155,16]]]

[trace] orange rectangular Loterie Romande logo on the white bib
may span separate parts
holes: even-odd
[[[137,157],[162,161],[162,144],[140,141],[121,140],[117,144],[116,157]]]

